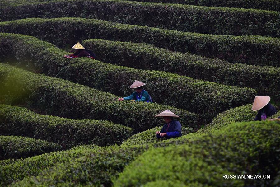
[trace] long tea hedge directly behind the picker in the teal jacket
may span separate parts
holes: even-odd
[[[90,58],[65,59],[65,51],[30,36],[0,34],[0,47],[3,49],[1,56],[5,56],[6,51],[20,60],[31,57],[37,72],[116,95],[130,95],[132,81],[141,80],[147,83],[144,88],[156,103],[189,110],[199,114],[204,121],[210,121],[229,108],[252,102],[256,94],[250,88],[224,86],[169,72],[119,67]],[[22,50],[25,52],[21,53]],[[27,61],[30,63],[30,59]]]

